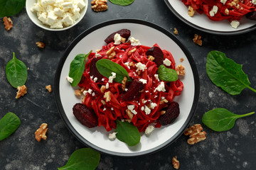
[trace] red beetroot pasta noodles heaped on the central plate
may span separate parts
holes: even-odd
[[[159,47],[157,44],[154,46]],[[110,50],[111,47],[114,47],[114,52],[116,55],[112,59],[112,62],[120,64],[124,69],[127,70],[130,79],[145,79],[146,84],[144,85],[143,91],[139,92],[139,95],[135,96],[132,101],[124,101],[122,99],[122,94],[126,91],[122,90],[122,84],[117,82],[108,82],[108,77],[99,79],[95,81],[95,77],[90,76],[90,62],[92,59],[108,59],[106,52]],[[136,48],[136,51],[129,55],[129,51]],[[85,64],[85,72],[82,75],[82,79],[78,84],[81,89],[85,89],[90,93],[87,93],[83,103],[87,108],[91,108],[95,111],[98,119],[98,126],[104,126],[107,131],[116,128],[115,120],[129,120],[135,126],[137,126],[139,132],[142,132],[146,127],[154,123],[156,128],[161,127],[158,122],[158,118],[161,115],[161,109],[168,106],[168,103],[174,100],[175,96],[179,96],[183,90],[183,83],[178,79],[173,82],[166,82],[156,79],[157,77],[157,66],[155,62],[150,61],[146,56],[146,51],[150,47],[144,45],[133,46],[130,42],[122,43],[120,45],[114,45],[114,42],[110,42],[108,45],[103,45],[102,49],[97,52],[92,52],[87,57],[87,63]],[[168,59],[171,61],[170,69],[175,69],[174,57],[171,55],[171,52],[167,50],[162,50],[164,53],[164,60]],[[96,57],[97,56],[97,57]],[[137,67],[134,64],[141,62],[146,65],[146,69],[140,74],[137,72]],[[131,64],[132,63],[132,64]],[[166,91],[157,91],[156,87],[164,82],[164,88]],[[106,86],[108,88],[102,92],[100,91],[101,86]],[[127,81],[126,86],[128,87],[131,82]],[[104,97],[105,92],[110,91],[110,101],[106,101]],[[168,103],[160,104],[160,101],[166,98]],[[150,113],[146,112],[146,107],[154,105],[154,108],[150,109]],[[129,118],[126,110],[127,106],[134,106],[133,118]]]

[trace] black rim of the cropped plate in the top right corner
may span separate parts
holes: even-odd
[[[240,34],[244,34],[244,33],[249,33],[252,30],[256,30],[256,24],[254,26],[251,26],[249,28],[245,28],[243,30],[234,30],[234,31],[218,31],[218,30],[209,30],[206,28],[201,28],[200,26],[197,26],[196,24],[193,24],[189,21],[187,21],[185,18],[183,18],[169,3],[169,0],[164,0],[164,2],[166,3],[166,5],[168,6],[168,8],[171,10],[172,13],[174,13],[174,15],[180,19],[181,21],[183,21],[183,23],[186,23],[188,26],[191,26],[193,28],[196,28],[197,30],[201,30],[203,32],[206,33],[211,33],[211,34],[215,34],[215,35],[240,35]]]

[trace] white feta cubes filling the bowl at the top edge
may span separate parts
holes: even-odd
[[[43,24],[60,29],[73,25],[85,6],[84,0],[38,0],[31,12],[36,13],[38,20]]]

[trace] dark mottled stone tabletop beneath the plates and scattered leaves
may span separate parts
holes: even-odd
[[[256,111],[256,94],[245,89],[238,96],[230,96],[211,83],[206,74],[206,55],[210,50],[220,50],[243,65],[252,88],[256,88],[256,31],[243,35],[220,36],[203,33],[187,26],[174,16],[164,1],[135,0],[130,6],[116,6],[108,2],[108,10],[95,13],[88,8],[85,18],[70,30],[50,32],[38,28],[28,18],[26,9],[11,17],[14,28],[9,32],[0,23],[0,118],[9,111],[21,119],[21,126],[10,137],[0,142],[0,169],[44,170],[57,169],[68,161],[75,149],[85,147],[65,127],[55,105],[55,96],[45,89],[54,85],[55,70],[65,48],[82,31],[97,23],[114,18],[139,18],[156,23],[172,32],[178,29],[178,40],[188,48],[196,62],[200,77],[200,98],[191,125],[201,123],[203,113],[223,107],[234,113]],[[196,45],[193,35],[202,35],[203,46]],[[46,43],[38,49],[35,42]],[[28,94],[15,99],[16,89],[6,80],[5,66],[12,52],[26,63]],[[48,139],[36,142],[34,132],[48,123]],[[203,125],[207,138],[196,145],[188,145],[186,136],[176,140],[159,152],[141,157],[123,158],[102,154],[97,169],[174,169],[171,159],[177,155],[180,169],[256,169],[255,115],[242,118],[227,132],[213,132]]]

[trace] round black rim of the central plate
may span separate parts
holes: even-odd
[[[192,69],[192,72],[193,72],[193,77],[194,77],[194,82],[195,82],[195,95],[194,95],[194,98],[193,98],[193,104],[192,104],[192,107],[191,107],[191,111],[190,111],[190,113],[188,115],[188,118],[186,119],[185,123],[182,125],[181,129],[178,130],[178,132],[173,137],[171,137],[169,140],[167,140],[163,144],[159,145],[158,147],[154,147],[153,149],[149,149],[149,150],[146,150],[144,152],[134,152],[134,153],[112,152],[112,151],[97,147],[97,146],[93,145],[91,142],[88,142],[87,140],[85,140],[85,138],[83,138],[75,130],[75,128],[73,128],[73,126],[71,125],[67,116],[65,115],[63,105],[60,101],[60,90],[59,90],[60,74],[61,74],[61,71],[63,69],[63,64],[65,63],[65,60],[68,57],[70,51],[73,49],[73,47],[75,47],[75,45],[80,40],[82,40],[82,38],[84,38],[86,35],[90,34],[92,31],[97,30],[98,28],[102,28],[102,27],[109,26],[109,25],[116,24],[116,23],[138,23],[138,24],[142,24],[144,26],[149,26],[151,28],[155,28],[156,30],[159,30],[162,33],[164,33],[165,35],[169,36],[169,38],[174,40],[174,42],[176,42],[176,44],[179,47],[181,47],[181,50],[183,50],[184,54],[188,58],[188,62],[191,64],[191,69]],[[193,57],[191,56],[191,53],[188,51],[188,49],[174,35],[172,35],[168,30],[166,30],[164,28],[161,28],[160,26],[157,26],[154,23],[150,23],[149,21],[142,21],[142,20],[139,20],[139,19],[131,19],[131,18],[114,19],[114,20],[110,20],[110,21],[105,21],[103,23],[97,24],[96,26],[92,26],[91,28],[85,30],[83,33],[78,35],[78,37],[75,38],[75,40],[73,40],[73,42],[71,42],[70,45],[68,46],[68,48],[65,50],[65,52],[63,54],[63,57],[60,59],[60,62],[58,64],[58,68],[55,72],[55,78],[54,78],[55,103],[57,105],[58,112],[60,113],[60,117],[63,119],[63,122],[65,123],[68,130],[70,130],[70,132],[80,142],[82,142],[82,144],[86,145],[87,147],[95,149],[95,150],[97,150],[98,152],[100,152],[102,154],[109,154],[109,155],[112,155],[112,156],[119,156],[119,157],[135,157],[135,156],[142,156],[144,154],[152,154],[154,152],[159,151],[160,149],[164,149],[165,147],[171,145],[172,142],[177,140],[178,137],[180,137],[183,134],[183,131],[186,130],[186,128],[188,127],[188,124],[191,122],[191,119],[193,118],[193,115],[196,112],[196,107],[197,107],[198,99],[199,99],[199,91],[200,91],[200,85],[199,85],[198,71],[196,69],[195,62],[193,61]]]

